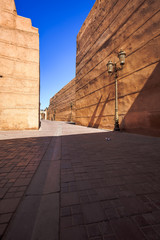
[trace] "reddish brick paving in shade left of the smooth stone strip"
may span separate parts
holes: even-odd
[[[24,196],[51,138],[0,141],[0,236]]]

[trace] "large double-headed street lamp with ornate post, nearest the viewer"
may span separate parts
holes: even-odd
[[[118,84],[117,84],[117,78],[118,78],[118,71],[121,71],[123,69],[123,65],[125,64],[125,57],[126,53],[123,50],[120,50],[118,53],[119,61],[121,67],[117,67],[117,63],[112,63],[112,61],[109,61],[107,63],[107,71],[109,74],[115,74],[115,123],[114,123],[114,131],[120,131],[119,128],[119,117],[118,117]]]

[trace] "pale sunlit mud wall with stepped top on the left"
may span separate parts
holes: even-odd
[[[0,130],[39,127],[39,34],[0,0]]]

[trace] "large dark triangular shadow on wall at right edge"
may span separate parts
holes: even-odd
[[[148,78],[120,124],[120,129],[160,136],[160,63]]]

